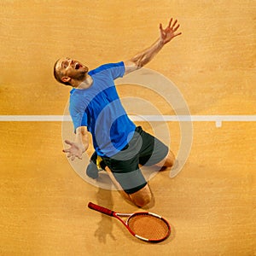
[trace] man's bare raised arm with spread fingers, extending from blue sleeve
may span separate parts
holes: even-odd
[[[169,21],[166,29],[163,29],[162,24],[160,24],[160,38],[158,38],[154,44],[147,49],[144,49],[141,53],[135,55],[130,60],[125,61],[125,74],[131,73],[146,65],[154,58],[154,56],[160,51],[160,49],[163,48],[165,44],[172,40],[172,38],[181,35],[181,32],[177,32],[179,27],[177,20],[175,20],[173,23],[172,21],[172,19]]]

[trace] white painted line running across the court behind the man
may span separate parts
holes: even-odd
[[[133,121],[174,121],[174,122],[255,122],[256,115],[130,115]],[[0,122],[62,122],[72,121],[69,115],[0,115]]]

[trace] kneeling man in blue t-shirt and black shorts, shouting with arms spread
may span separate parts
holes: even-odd
[[[172,19],[166,29],[160,24],[160,38],[128,61],[105,64],[89,71],[79,61],[62,58],[54,67],[55,79],[73,87],[69,111],[76,137],[74,142],[65,141],[70,148],[63,152],[72,160],[82,159],[89,147],[90,131],[96,150],[91,160],[96,163],[100,156],[103,168],[121,194],[138,207],[147,205],[152,197],[139,166],[172,167],[175,157],[165,144],[142,127],[136,127],[128,118],[113,80],[151,61],[165,44],[181,34],[177,32],[178,27],[177,20]]]

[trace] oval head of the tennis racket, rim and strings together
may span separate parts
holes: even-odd
[[[152,212],[135,212],[126,224],[131,233],[143,241],[160,242],[171,234],[168,221]]]

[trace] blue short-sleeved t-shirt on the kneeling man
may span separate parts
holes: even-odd
[[[91,70],[93,83],[88,89],[70,92],[69,112],[74,129],[87,126],[96,153],[111,157],[129,143],[136,125],[123,108],[114,79],[123,77],[124,62],[109,63]]]

